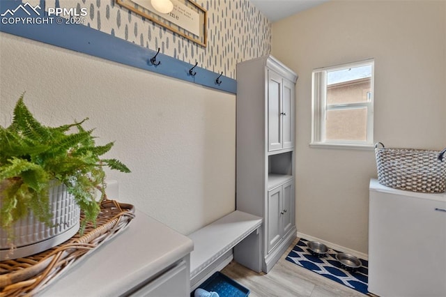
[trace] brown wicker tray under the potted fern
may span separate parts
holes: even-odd
[[[134,206],[131,204],[105,199],[100,209],[96,224],[88,222],[82,236],[78,232],[68,241],[49,250],[24,258],[0,261],[0,297],[37,294],[86,254],[123,231],[134,218]],[[80,220],[83,219],[82,214]]]

